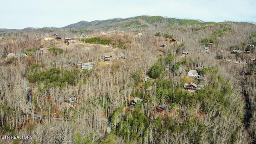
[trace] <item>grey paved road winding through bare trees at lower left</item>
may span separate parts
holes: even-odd
[[[28,88],[28,89],[31,89],[31,88]],[[71,121],[71,120],[89,120],[89,119],[94,119],[94,118],[78,118],[78,119],[71,119],[71,118],[53,118],[53,117],[46,117],[46,116],[40,116],[38,114],[35,114],[32,112],[32,108],[31,108],[31,103],[32,103],[32,100],[33,100],[33,95],[28,91],[27,92],[27,96],[28,96],[28,113],[36,118],[44,118],[44,119],[52,119],[52,120],[68,120],[68,121]],[[107,130],[106,130],[106,135],[110,134],[111,132],[111,123],[108,119],[106,118],[97,118],[98,120],[102,120],[104,122],[106,122],[107,124]]]

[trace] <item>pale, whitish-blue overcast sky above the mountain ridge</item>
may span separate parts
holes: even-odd
[[[3,0],[0,28],[64,27],[84,21],[163,16],[204,22],[256,22],[255,0]]]

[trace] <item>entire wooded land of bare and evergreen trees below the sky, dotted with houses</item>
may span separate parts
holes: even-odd
[[[0,32],[0,143],[256,143],[256,25],[108,21]]]

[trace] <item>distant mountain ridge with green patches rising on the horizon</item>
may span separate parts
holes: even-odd
[[[64,29],[80,28],[171,28],[174,26],[205,25],[214,22],[200,22],[198,20],[179,20],[176,18],[164,18],[162,16],[136,16],[132,18],[114,18],[109,20],[94,20],[92,22],[80,21],[75,24],[62,27]]]

